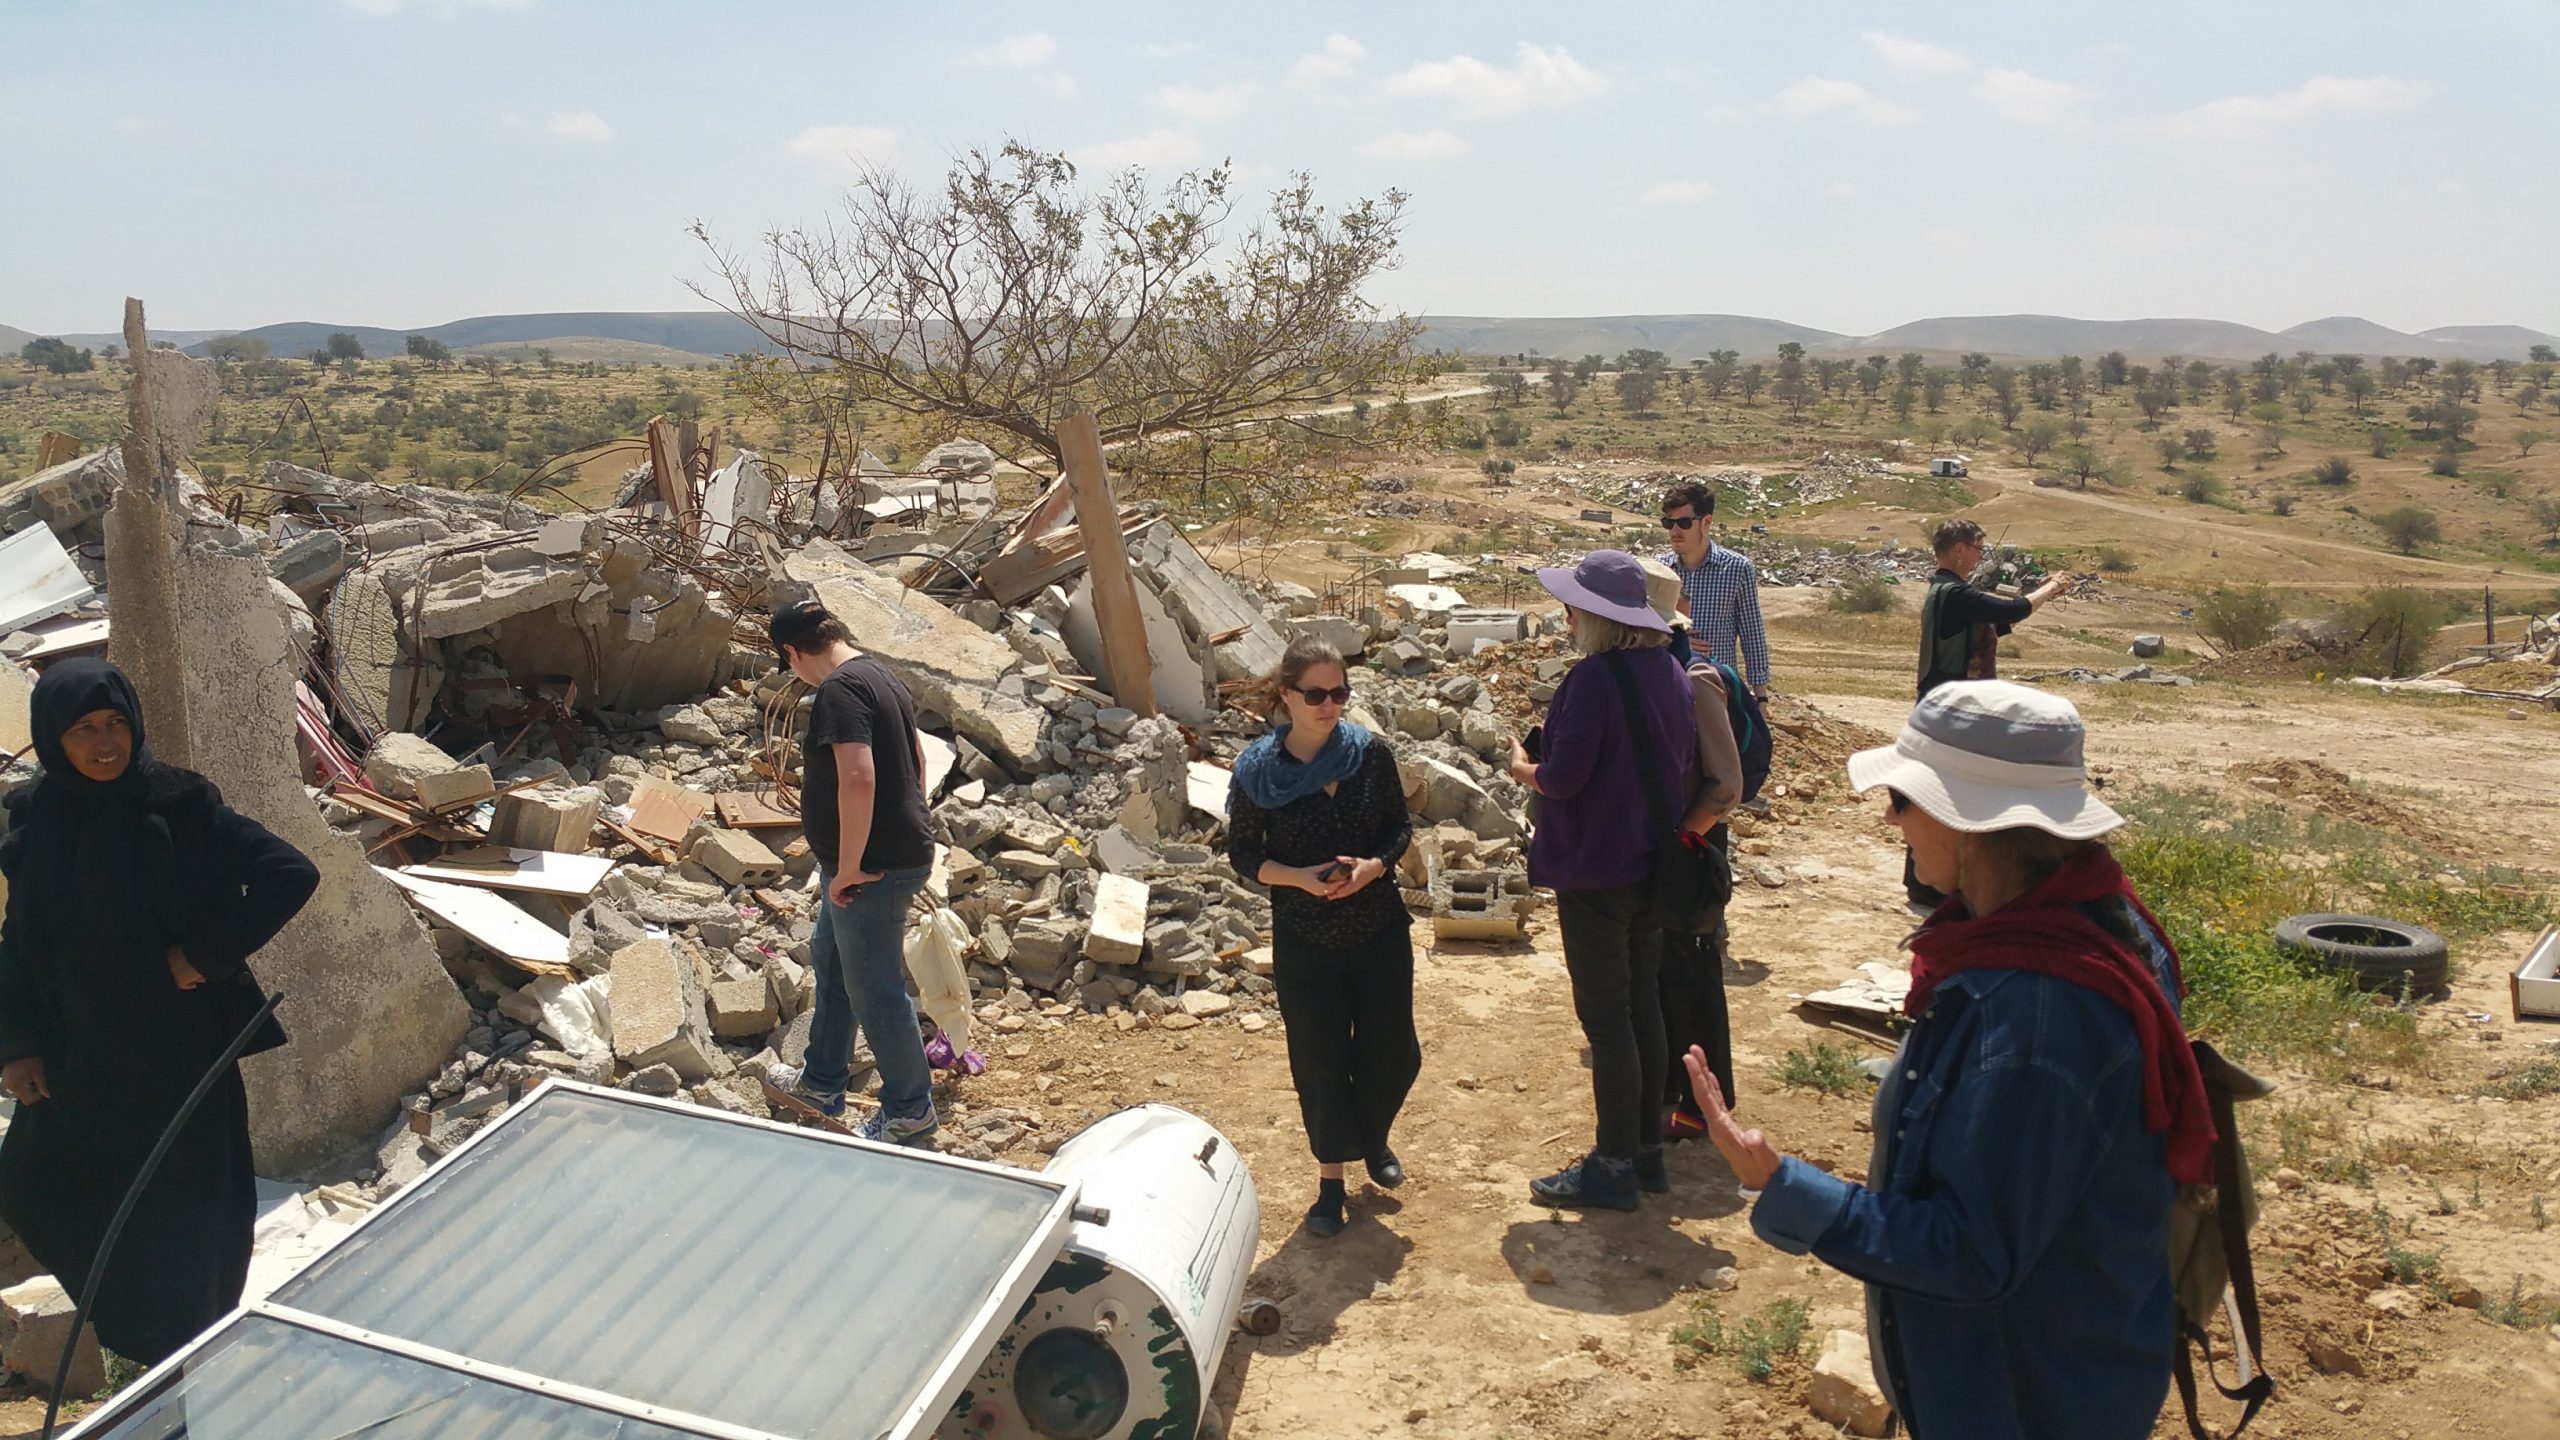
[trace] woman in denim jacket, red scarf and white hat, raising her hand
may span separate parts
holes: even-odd
[[[2102,835],[2068,700],[1943,684],[1892,748],[1887,792],[1948,902],[1912,935],[1912,1030],[1853,1184],[1741,1130],[1690,1053],[1708,1135],[1751,1230],[1866,1281],[1866,1340],[1923,1437],[2143,1440],[2176,1358],[2181,1184],[2212,1184],[2214,1120],[2179,1022],[2179,956]]]

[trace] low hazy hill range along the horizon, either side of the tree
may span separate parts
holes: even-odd
[[[573,310],[550,315],[476,315],[415,331],[381,325],[328,325],[292,320],[253,331],[156,331],[189,354],[205,354],[218,336],[256,336],[279,356],[305,356],[328,343],[333,331],[351,331],[364,354],[384,359],[407,348],[410,336],[443,341],[458,354],[499,354],[530,359],[535,348],[563,361],[617,364],[699,364],[732,354],[760,354],[768,346],[740,318],[719,310]],[[26,331],[0,325],[5,354],[31,341]],[[74,346],[113,346],[118,336],[64,336]],[[1423,346],[1469,356],[1533,354],[1577,359],[1615,356],[1649,348],[1674,364],[1705,359],[1708,351],[1741,351],[1769,359],[1787,341],[1818,356],[1869,356],[1920,351],[1938,364],[1964,354],[2002,361],[2053,356],[2102,356],[2125,351],[2132,359],[2186,356],[2207,361],[2253,361],[2268,351],[2319,351],[2365,356],[2435,359],[2524,359],[2532,346],[2560,346],[2560,338],[2524,325],[2440,325],[2414,336],[2355,315],[2330,315],[2289,331],[2260,331],[2230,320],[2074,320],[2068,315],[1938,315],[1879,331],[1841,336],[1812,325],[1792,325],[1761,315],[1423,315]]]

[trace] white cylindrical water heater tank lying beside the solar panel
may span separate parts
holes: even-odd
[[[937,1440],[1190,1440],[1254,1266],[1244,1158],[1206,1120],[1142,1104],[1060,1145],[1042,1179],[1073,1184],[1083,1220]]]

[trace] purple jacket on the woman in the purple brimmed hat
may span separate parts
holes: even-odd
[[[1636,676],[1654,753],[1661,766],[1661,812],[1677,822],[1697,769],[1697,723],[1690,676],[1672,651],[1623,651]],[[1528,884],[1546,889],[1610,889],[1654,871],[1654,820],[1636,779],[1636,746],[1608,656],[1564,671],[1546,702],[1539,764],[1539,828],[1528,835]]]

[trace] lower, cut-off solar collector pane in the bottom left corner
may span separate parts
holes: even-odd
[[[640,1420],[243,1317],[113,1440],[689,1440]]]

